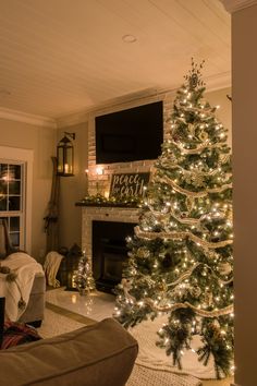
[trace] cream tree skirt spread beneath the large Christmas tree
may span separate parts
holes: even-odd
[[[138,341],[139,352],[136,360],[136,364],[144,366],[145,369],[151,369],[152,371],[159,371],[164,373],[170,373],[172,376],[186,375],[185,382],[178,383],[178,385],[199,385],[197,378],[200,379],[215,379],[216,372],[213,367],[213,359],[210,358],[208,364],[205,366],[198,361],[198,355],[192,350],[184,350],[182,360],[182,370],[172,365],[172,355],[167,355],[166,350],[156,346],[159,340],[157,331],[166,324],[168,316],[159,316],[154,322],[145,321],[135,327],[130,329],[130,333]],[[194,336],[192,341],[192,349],[197,350],[201,346],[200,337]],[[142,369],[144,372],[144,370]],[[180,378],[180,377],[179,377]],[[170,379],[171,382],[172,379]],[[173,384],[173,383],[171,383]],[[132,384],[134,385],[134,384]],[[132,386],[131,385],[131,386]],[[148,384],[154,385],[154,384]],[[176,385],[176,383],[174,383]]]

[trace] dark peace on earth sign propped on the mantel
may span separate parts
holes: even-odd
[[[144,188],[147,186],[149,178],[149,172],[112,174],[110,185],[110,197],[140,198],[144,196]]]

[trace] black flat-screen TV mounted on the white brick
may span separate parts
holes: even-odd
[[[163,142],[162,101],[96,117],[96,162],[156,159]]]

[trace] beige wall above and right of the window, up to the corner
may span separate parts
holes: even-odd
[[[38,261],[41,261],[46,251],[44,217],[50,198],[51,156],[56,153],[56,135],[54,129],[0,119],[0,145],[32,149],[34,153],[32,255]]]

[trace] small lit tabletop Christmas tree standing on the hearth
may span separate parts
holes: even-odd
[[[91,275],[91,267],[85,251],[83,251],[79,258],[77,272],[74,276],[74,284],[81,294],[95,290],[95,280]]]

